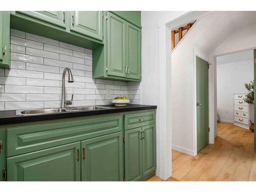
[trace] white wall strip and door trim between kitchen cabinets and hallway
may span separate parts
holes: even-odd
[[[166,60],[159,60],[159,54],[165,55],[166,28],[165,24],[185,14],[185,11],[142,11],[142,81],[141,104],[155,104],[158,106],[156,114],[157,134],[157,172],[156,174],[166,180],[171,176],[171,134],[170,134],[170,99],[168,90],[170,76],[170,61],[166,66]],[[170,42],[170,41],[168,41]],[[163,49],[159,53],[159,49]],[[170,50],[170,49],[168,49]],[[170,54],[170,52],[169,52]],[[167,70],[166,70],[167,68]],[[166,84],[167,82],[167,84]]]

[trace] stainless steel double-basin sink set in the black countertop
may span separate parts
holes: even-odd
[[[62,113],[62,112],[77,112],[77,111],[94,111],[94,110],[105,110],[112,109],[106,106],[74,106],[67,108],[49,108],[49,109],[31,109],[31,110],[16,110],[16,115],[41,115],[51,113]]]

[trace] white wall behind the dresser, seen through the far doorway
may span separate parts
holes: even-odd
[[[244,83],[253,79],[253,59],[218,65],[217,58],[217,111],[221,121],[233,122],[233,93],[247,93]]]

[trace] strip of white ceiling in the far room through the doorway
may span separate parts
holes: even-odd
[[[241,51],[238,53],[219,56],[217,57],[217,65],[239,62],[244,60],[252,60],[253,62],[253,50]]]

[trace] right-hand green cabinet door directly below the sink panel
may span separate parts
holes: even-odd
[[[82,181],[122,181],[122,132],[81,141]]]

